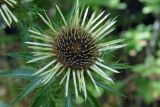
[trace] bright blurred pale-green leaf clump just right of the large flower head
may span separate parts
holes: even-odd
[[[141,24],[134,29],[131,28],[122,32],[121,36],[125,38],[129,44],[129,46],[125,48],[125,51],[131,56],[135,56],[138,52],[141,52],[151,38],[151,30],[152,26]]]

